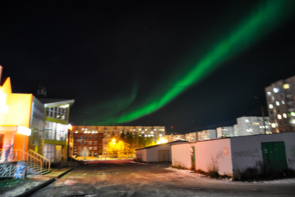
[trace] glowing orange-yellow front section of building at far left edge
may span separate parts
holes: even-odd
[[[28,136],[31,135],[29,127],[32,100],[32,94],[12,93],[9,77],[0,84],[1,149],[4,149],[6,144],[11,144],[13,149],[27,151]]]

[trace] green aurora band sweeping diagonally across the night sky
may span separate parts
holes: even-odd
[[[149,96],[140,105],[132,107],[132,103],[137,97],[138,87],[135,84],[130,96],[122,95],[92,107],[92,111],[93,109],[99,111],[102,108],[109,108],[109,110],[106,110],[108,113],[99,114],[97,117],[94,116],[90,120],[83,121],[83,124],[125,123],[160,109],[190,86],[208,76],[222,63],[242,53],[290,19],[294,15],[294,4],[295,1],[278,0],[259,4],[250,16],[229,30],[228,35],[214,45],[203,58],[196,60],[196,63],[191,65],[191,69],[182,78],[177,81],[171,81],[171,79],[164,81],[164,84],[171,84],[169,88],[154,90],[154,92],[147,94]],[[159,92],[161,92],[160,96]],[[89,109],[86,110],[89,111]]]

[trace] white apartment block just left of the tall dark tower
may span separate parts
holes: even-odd
[[[250,117],[240,117],[237,118],[237,136],[248,136],[248,135],[258,135],[258,134],[268,134],[271,133],[269,118],[250,116]],[[264,128],[265,131],[264,132]]]

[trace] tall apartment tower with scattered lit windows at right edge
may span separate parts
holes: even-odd
[[[265,87],[272,132],[295,131],[295,76]]]

